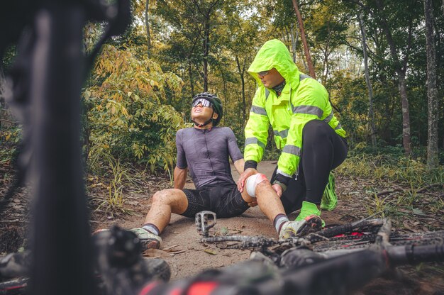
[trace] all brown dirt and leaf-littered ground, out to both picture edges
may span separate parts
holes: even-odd
[[[275,161],[264,161],[260,163],[258,169],[265,173],[267,177],[271,177],[275,165]],[[238,172],[235,172],[233,167],[232,171],[233,178],[237,180]],[[131,215],[115,214],[111,216],[103,208],[93,210],[90,220],[91,230],[110,228],[113,224],[128,229],[140,227],[150,208],[152,194],[157,189],[170,187],[170,184],[164,178],[150,175],[146,179],[145,186],[143,191],[140,191],[140,188],[126,188],[125,208],[131,211]],[[103,198],[106,199],[107,191],[104,192],[103,189],[93,189],[92,187],[89,191],[91,195],[90,207],[96,208],[104,200]],[[193,187],[191,181],[187,183],[187,187]],[[322,218],[327,224],[333,224],[345,223],[367,216],[368,208],[372,206],[372,199],[369,198],[366,192],[368,187],[384,191],[390,188],[390,184],[372,179],[343,178],[336,175],[338,207],[333,212],[323,212]],[[6,186],[0,186],[0,192],[4,189],[6,189]],[[21,245],[26,245],[23,238],[26,237],[26,225],[28,224],[29,195],[28,189],[23,189],[23,191],[16,194],[1,220],[0,254],[16,252]],[[432,197],[433,194],[429,196],[429,198]],[[296,213],[292,213],[292,216],[290,216],[290,218],[295,217]],[[442,221],[442,218],[440,220]],[[422,222],[406,220],[404,221],[404,230],[409,229],[428,230]],[[236,218],[218,219],[217,225],[213,229],[213,233],[217,232],[236,235],[264,235],[277,238],[272,222],[265,218],[258,207],[250,208]],[[232,265],[248,259],[250,255],[249,250],[222,250],[214,245],[199,243],[201,237],[194,226],[194,219],[177,215],[172,216],[170,226],[162,233],[162,238],[164,240],[163,250],[152,251],[150,256],[162,257],[167,260],[172,269],[173,281],[192,276],[204,269]],[[374,279],[354,295],[444,294],[442,267],[439,265],[423,265],[421,269],[421,271],[418,271],[418,267],[399,267],[396,273],[392,272],[388,277]]]

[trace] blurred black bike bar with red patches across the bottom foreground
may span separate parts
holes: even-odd
[[[311,265],[287,265],[287,269],[279,270],[250,260],[242,262],[237,269],[211,270],[194,279],[170,284],[150,282],[138,295],[188,295],[197,291],[211,295],[348,294],[390,267],[426,261],[443,262],[444,245],[362,250],[321,259]]]

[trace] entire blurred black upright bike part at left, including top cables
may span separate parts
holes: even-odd
[[[25,6],[27,18],[19,26],[30,23],[30,32],[23,35],[23,51],[11,70],[14,85],[9,99],[24,115],[25,155],[30,161],[23,155],[21,160],[27,162],[33,183],[30,293],[94,294],[79,98],[84,74],[100,45],[128,25],[129,2],[117,1],[114,11],[97,0],[32,2]],[[6,21],[15,23],[11,16]],[[109,21],[110,26],[93,55],[85,57],[82,29],[90,19]],[[17,38],[7,37],[1,40],[0,54]]]

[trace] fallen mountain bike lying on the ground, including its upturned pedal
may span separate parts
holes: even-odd
[[[203,243],[252,249],[250,260],[170,284],[150,282],[139,295],[350,294],[400,265],[444,262],[444,230],[399,235],[389,219],[331,226],[288,240],[241,235],[209,237],[212,213],[196,216]]]

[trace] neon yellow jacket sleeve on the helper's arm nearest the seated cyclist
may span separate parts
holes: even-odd
[[[245,161],[252,160],[258,163],[262,160],[267,145],[269,125],[265,111],[265,88],[260,87],[252,99],[250,118],[245,126]]]

